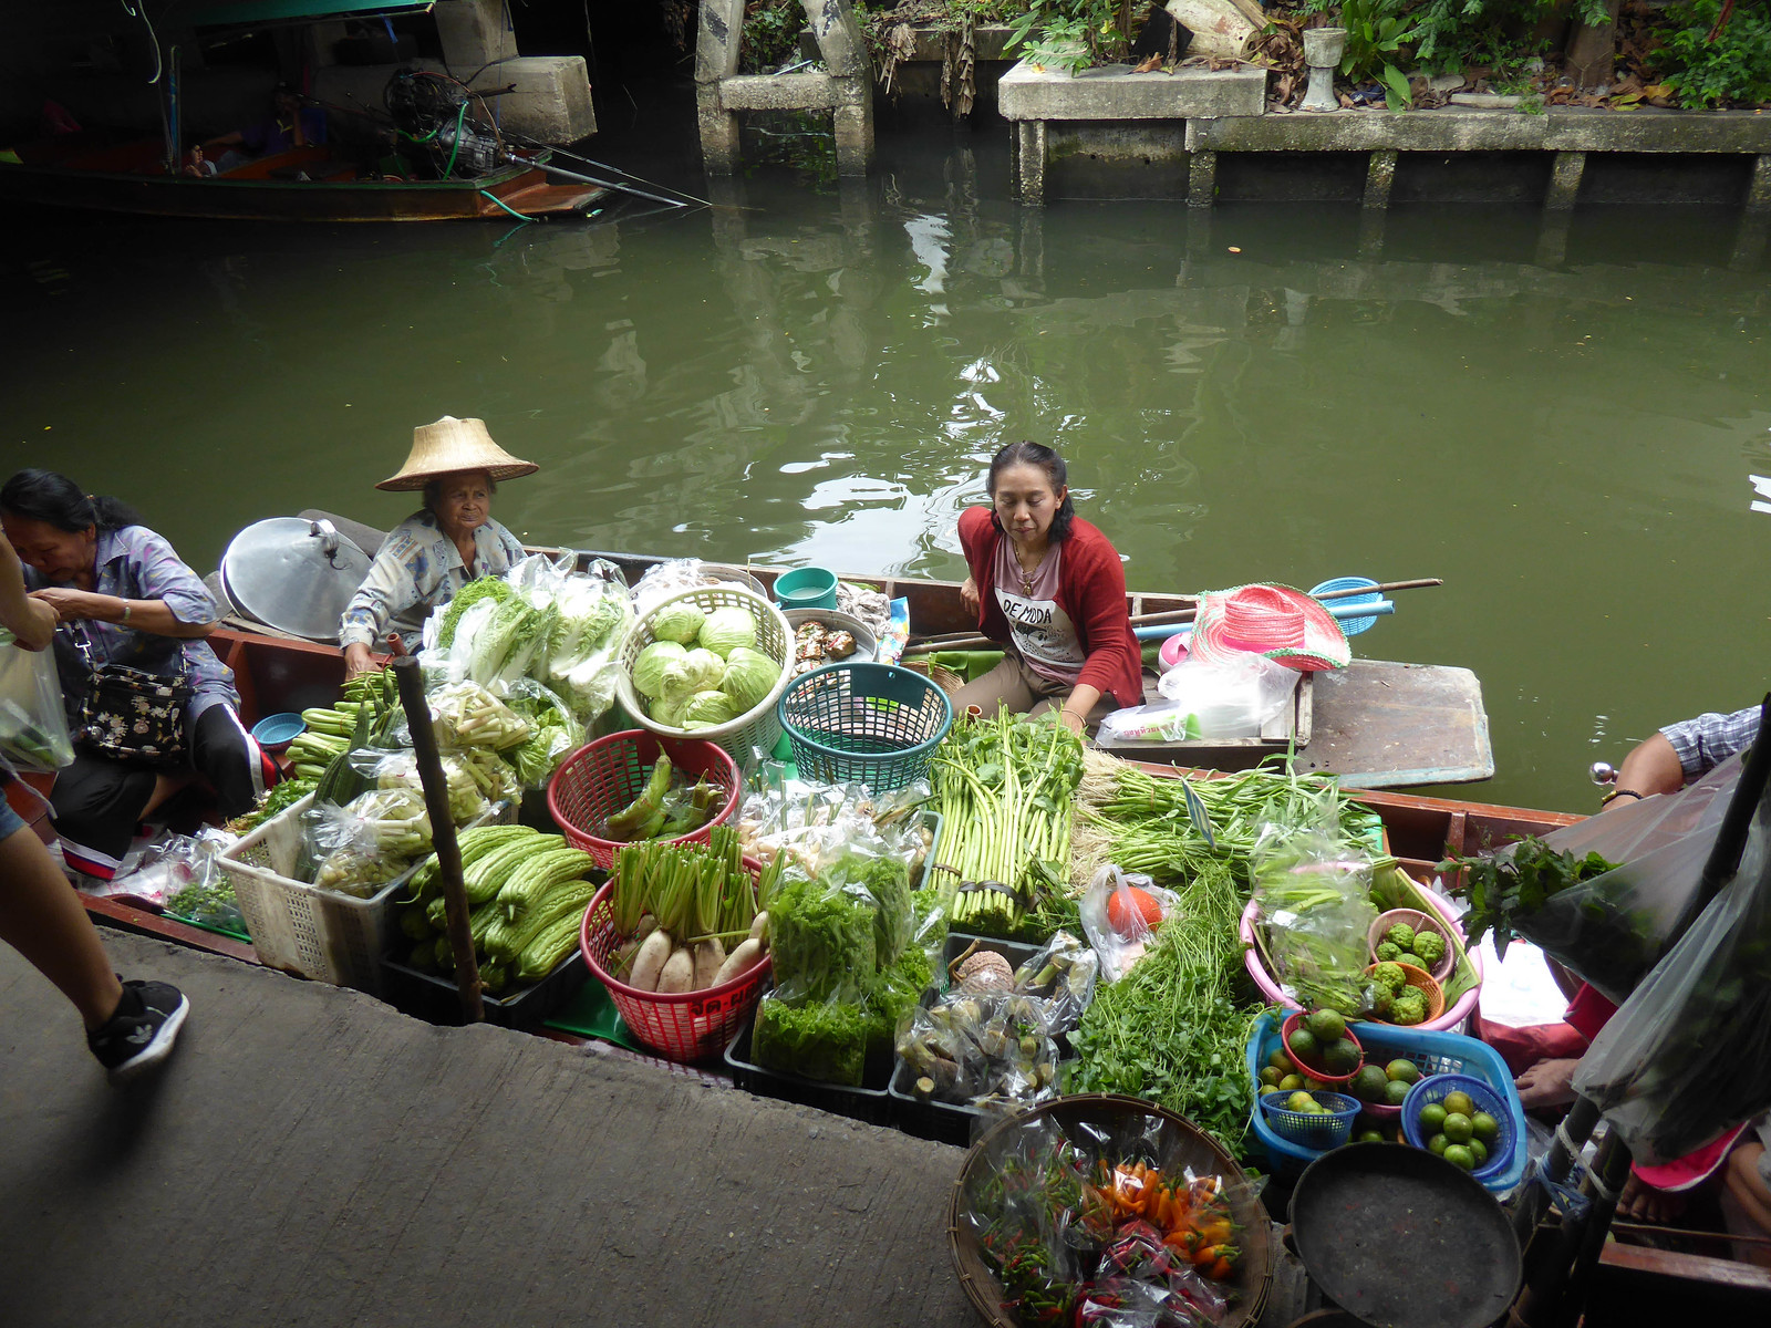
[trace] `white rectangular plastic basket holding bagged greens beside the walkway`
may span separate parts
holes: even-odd
[[[223,850],[221,869],[234,882],[234,898],[259,963],[379,995],[381,956],[398,928],[395,899],[406,894],[406,882],[418,862],[367,899],[296,880],[303,850],[301,813],[312,804],[313,795],[308,793]],[[510,815],[512,807],[499,804],[476,816],[473,825],[508,820]],[[260,845],[271,857],[269,869],[244,861]]]

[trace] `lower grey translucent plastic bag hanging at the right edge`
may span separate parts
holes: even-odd
[[[1574,1069],[1636,1162],[1663,1163],[1771,1107],[1771,790],[1734,880]]]

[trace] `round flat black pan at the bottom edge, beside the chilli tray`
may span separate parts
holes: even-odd
[[[1323,1294],[1378,1328],[1481,1328],[1520,1291],[1520,1243],[1495,1197],[1404,1144],[1316,1158],[1291,1193],[1291,1234]]]

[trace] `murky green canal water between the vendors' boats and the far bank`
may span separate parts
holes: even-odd
[[[1133,588],[1443,577],[1353,645],[1481,676],[1498,774],[1463,795],[1585,811],[1592,760],[1771,685],[1771,276],[1737,214],[1031,211],[946,140],[730,200],[27,216],[5,469],[119,494],[207,570],[260,517],[398,521],[372,485],[413,427],[478,414],[542,464],[496,499],[526,538],[958,577],[955,517],[1031,437]]]

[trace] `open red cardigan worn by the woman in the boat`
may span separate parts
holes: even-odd
[[[995,600],[995,558],[1002,531],[990,521],[990,508],[960,513],[960,547],[978,586],[978,630],[992,641],[1009,641],[1008,618]],[[1119,705],[1144,701],[1144,652],[1132,634],[1125,602],[1125,567],[1119,554],[1094,526],[1077,517],[1063,544],[1057,568],[1057,604],[1077,627],[1086,655],[1077,685],[1094,687]]]

